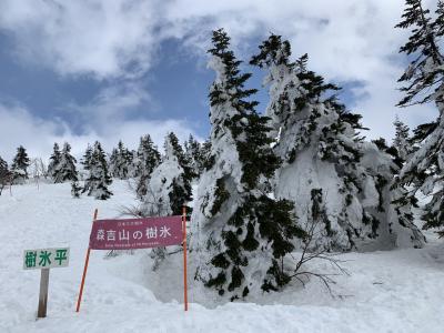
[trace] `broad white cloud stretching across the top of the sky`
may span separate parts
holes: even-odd
[[[252,40],[280,33],[291,40],[295,57],[307,52],[311,68],[327,79],[362,83],[354,110],[375,138],[392,135],[395,113],[412,127],[436,115],[431,107],[395,107],[405,59],[397,49],[407,32],[393,27],[403,7],[403,0],[3,0],[0,29],[14,37],[17,54],[33,65],[62,75],[132,80],[87,105],[71,105],[94,123],[122,121],[133,103],[150,98],[138,88],[138,77],[155,64],[158,47],[168,38],[204,54],[210,31],[224,27],[235,49],[250,57],[256,49]]]

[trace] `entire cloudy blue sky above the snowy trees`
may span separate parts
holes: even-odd
[[[434,8],[435,1],[425,1]],[[211,31],[224,28],[249,82],[268,104],[264,72],[248,60],[270,32],[293,57],[344,89],[369,139],[393,138],[396,114],[411,128],[437,115],[431,105],[396,108],[407,63],[394,29],[403,0],[2,0],[0,1],[0,157],[22,144],[48,159],[54,142],[81,155],[88,143],[135,149],[149,133],[161,147],[174,131],[209,135],[206,68]]]

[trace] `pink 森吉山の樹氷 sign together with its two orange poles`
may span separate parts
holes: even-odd
[[[183,299],[188,311],[186,208],[183,206],[182,216],[120,220],[98,220],[97,216],[98,210],[92,221],[75,312],[80,311],[91,250],[132,250],[179,244],[183,245]]]

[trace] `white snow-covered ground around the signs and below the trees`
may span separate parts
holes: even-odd
[[[92,251],[83,303],[74,312],[92,213],[119,216],[134,203],[125,182],[108,201],[72,199],[70,184],[13,186],[0,196],[0,332],[443,332],[444,241],[422,250],[347,253],[334,297],[320,284],[291,284],[252,303],[218,303],[193,285],[183,312],[182,258],[152,272],[149,250],[107,258]],[[48,317],[36,320],[39,271],[22,269],[26,249],[68,245],[70,265],[50,273]],[[319,263],[316,269],[331,270]]]

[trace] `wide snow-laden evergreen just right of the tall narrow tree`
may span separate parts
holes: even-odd
[[[316,248],[421,246],[421,233],[412,223],[401,226],[396,206],[391,204],[396,169],[391,157],[360,138],[361,115],[347,112],[337,101],[336,85],[307,70],[307,56],[295,62],[290,56],[290,43],[272,34],[251,60],[269,70],[270,135],[284,161],[275,198],[295,202],[301,226],[310,223],[313,201],[323,206],[325,219],[316,226],[313,242]]]

